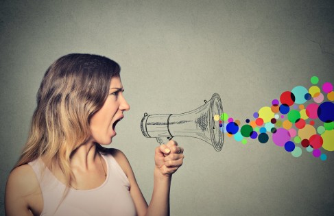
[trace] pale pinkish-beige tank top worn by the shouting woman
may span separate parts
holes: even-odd
[[[65,185],[49,169],[45,169],[42,160],[29,163],[36,173],[43,195],[43,211],[40,215],[136,215],[126,174],[110,154],[103,158],[107,164],[106,181],[91,190],[70,188],[63,201]]]

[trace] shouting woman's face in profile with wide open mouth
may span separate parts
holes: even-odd
[[[115,125],[123,119],[123,112],[130,106],[123,97],[123,86],[120,77],[112,77],[109,95],[104,105],[91,117],[91,133],[93,142],[108,145],[116,136]]]

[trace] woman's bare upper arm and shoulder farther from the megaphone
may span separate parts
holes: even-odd
[[[5,187],[5,215],[39,215],[42,206],[42,194],[32,167],[16,167]]]

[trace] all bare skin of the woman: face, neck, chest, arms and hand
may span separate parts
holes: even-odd
[[[80,145],[71,157],[71,169],[75,182],[71,186],[79,190],[94,189],[105,181],[106,162],[101,160],[96,143],[108,145],[116,136],[116,121],[123,118],[123,112],[130,106],[123,97],[123,86],[120,77],[112,77],[110,91],[104,106],[91,119],[91,139]],[[137,215],[169,215],[169,191],[172,174],[182,165],[183,149],[175,141],[160,145],[155,149],[154,189],[149,205],[136,182],[130,163],[123,152],[111,149],[130,182],[130,195],[134,201]],[[43,160],[43,158],[42,158]],[[53,174],[65,182],[60,170]],[[24,178],[23,178],[24,176]],[[38,180],[30,165],[16,167],[8,177],[5,189],[5,213],[12,215],[40,215],[43,211],[43,197]]]

